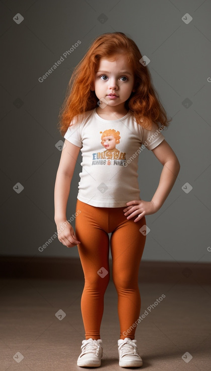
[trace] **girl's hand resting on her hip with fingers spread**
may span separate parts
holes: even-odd
[[[131,219],[132,217],[138,215],[134,221],[142,219],[142,217],[145,215],[154,214],[159,210],[156,208],[153,201],[133,200],[127,202],[126,205],[127,207],[123,210],[124,215],[127,217],[127,219]]]

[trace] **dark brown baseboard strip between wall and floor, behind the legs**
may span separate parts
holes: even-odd
[[[112,260],[109,265],[112,272]],[[210,263],[143,260],[138,279],[146,283],[210,285],[210,271]],[[84,273],[79,258],[0,256],[0,277],[84,280]]]

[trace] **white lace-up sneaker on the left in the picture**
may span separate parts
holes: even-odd
[[[99,367],[103,356],[102,340],[92,338],[82,341],[82,352],[78,358],[77,365],[81,367]]]

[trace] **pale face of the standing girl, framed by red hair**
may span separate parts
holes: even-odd
[[[113,61],[101,58],[94,81],[95,94],[99,100],[104,98],[108,106],[123,108],[131,91],[134,91],[134,76],[124,54],[114,58]],[[102,102],[106,103],[104,100]]]

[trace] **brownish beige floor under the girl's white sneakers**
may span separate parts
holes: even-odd
[[[187,285],[185,280],[139,284],[140,315],[147,314],[138,324],[135,337],[143,358],[142,369],[211,369],[211,287]],[[1,280],[0,370],[89,369],[77,366],[84,339],[82,290],[83,281]],[[154,304],[162,294],[163,301]],[[118,365],[118,338],[117,296],[110,281],[101,326],[103,370],[126,369]]]

